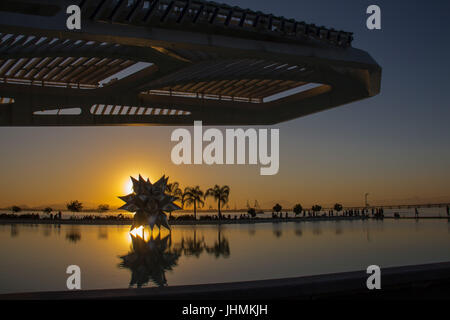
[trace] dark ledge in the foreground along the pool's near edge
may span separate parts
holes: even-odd
[[[0,299],[450,299],[450,262],[381,269],[381,290],[368,290],[365,270],[298,278],[164,288],[80,290],[0,295]]]

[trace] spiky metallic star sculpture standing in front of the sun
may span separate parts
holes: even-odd
[[[146,224],[149,224],[152,230],[154,225],[157,225],[158,228],[164,226],[170,230],[166,212],[181,208],[173,203],[178,199],[177,197],[165,193],[168,180],[169,178],[162,176],[161,179],[152,184],[149,179],[145,181],[141,175],[139,175],[139,180],[131,177],[133,193],[119,197],[126,202],[119,209],[136,212],[131,230]]]

